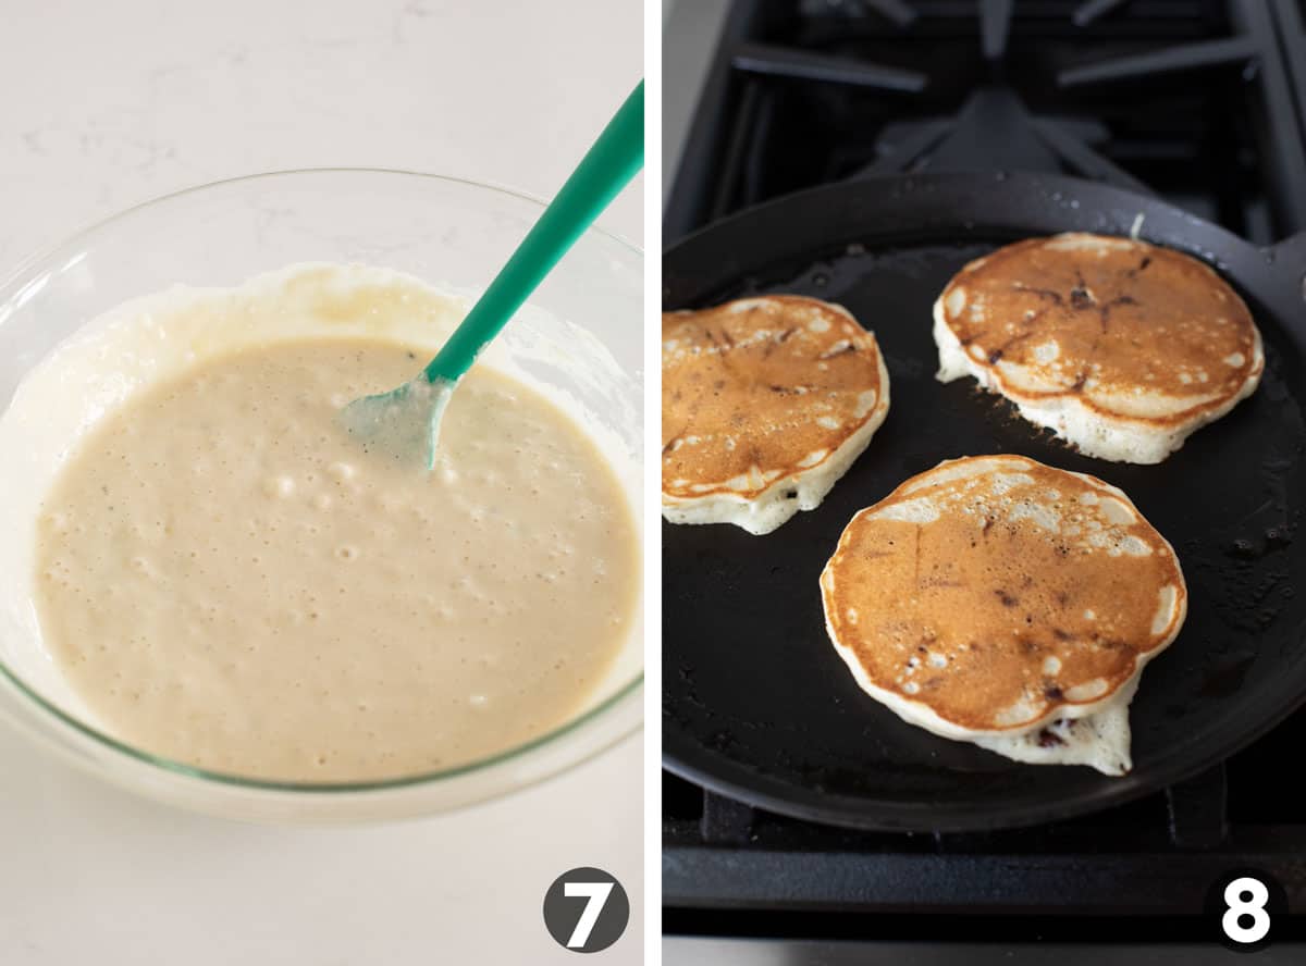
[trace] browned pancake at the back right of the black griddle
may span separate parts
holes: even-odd
[[[934,303],[939,380],[974,376],[1081,453],[1158,463],[1255,392],[1247,305],[1196,258],[1066,234],[966,265]]]

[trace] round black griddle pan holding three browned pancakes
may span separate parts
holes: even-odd
[[[973,380],[943,385],[934,299],[966,261],[1058,231],[1128,234],[1195,255],[1247,299],[1259,390],[1158,466],[1091,460]],[[1262,251],[1161,201],[1067,178],[850,181],[751,209],[663,255],[663,307],[797,292],[846,305],[889,371],[888,419],[821,506],[767,537],[662,525],[666,766],[752,805],[865,829],[1046,821],[1162,788],[1220,761],[1306,697],[1306,236]],[[942,460],[1020,453],[1122,487],[1170,540],[1187,623],[1131,706],[1134,771],[1020,765],[904,723],[831,646],[818,578],[852,516]]]

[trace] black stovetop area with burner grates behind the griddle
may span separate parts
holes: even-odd
[[[1277,240],[1306,228],[1301,20],[1299,0],[738,3],[666,239],[863,171],[1019,167]]]

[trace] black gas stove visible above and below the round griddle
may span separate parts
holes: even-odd
[[[1303,20],[1302,0],[738,0],[669,159],[663,242],[842,179],[1034,170],[1269,244],[1306,230]],[[693,74],[674,57],[669,102]],[[1237,668],[1212,684],[1237,685]],[[985,834],[833,829],[665,774],[665,931],[1209,939],[1194,910],[1230,868],[1268,872],[1301,912],[1306,788],[1285,762],[1303,745],[1306,710],[1164,794]]]

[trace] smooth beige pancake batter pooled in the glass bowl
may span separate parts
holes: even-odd
[[[39,514],[35,603],[112,735],[340,782],[471,762],[577,711],[635,607],[620,486],[567,415],[483,366],[431,474],[368,457],[340,406],[422,362],[376,339],[249,346],[77,445]]]

